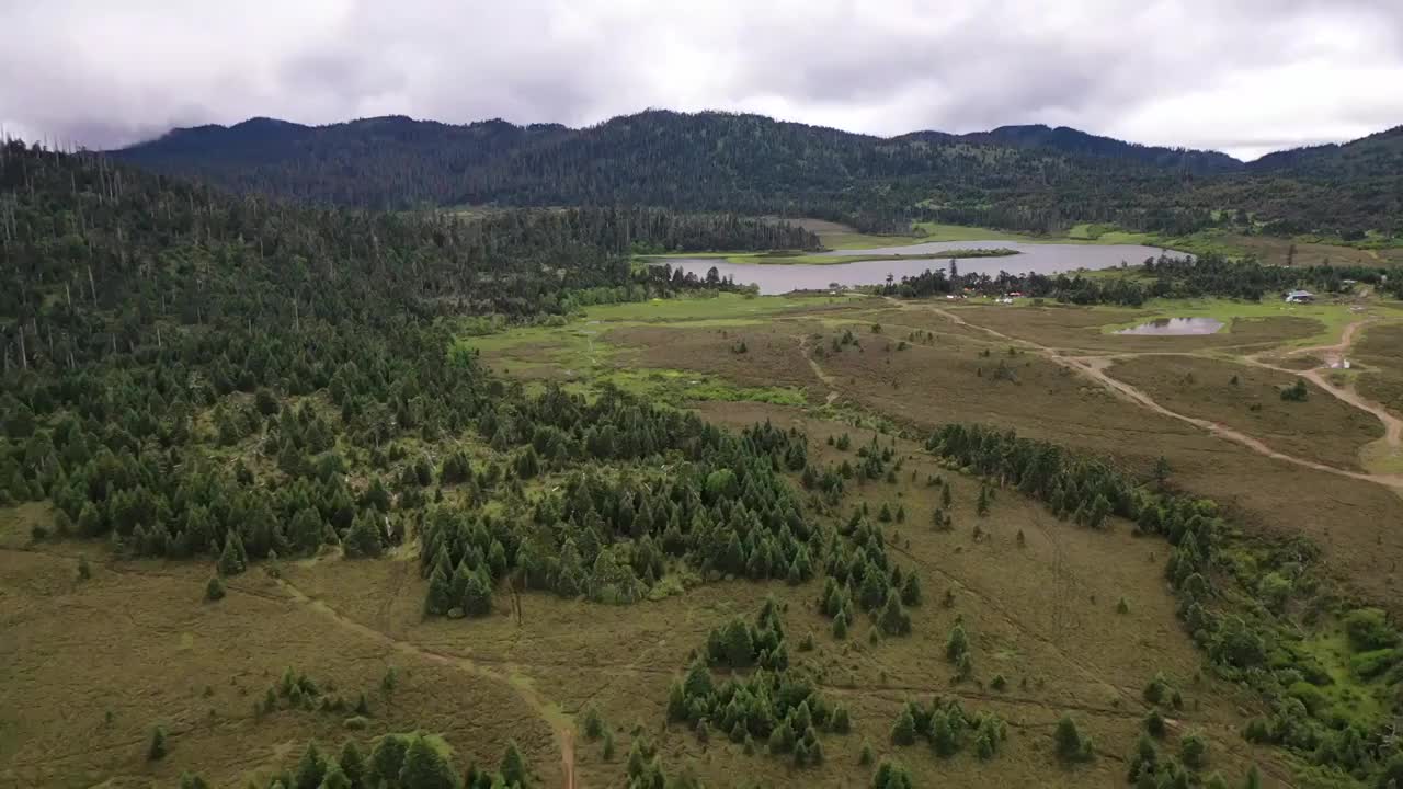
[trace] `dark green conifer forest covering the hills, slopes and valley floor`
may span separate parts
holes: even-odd
[[[863,489],[895,490],[881,486],[908,472],[915,483],[918,472],[906,463],[916,451],[898,449],[895,434],[919,434],[926,458],[978,483],[971,553],[992,539],[985,518],[1013,497],[1048,512],[1056,521],[1051,531],[1134,524],[1150,562],[1156,550],[1167,556],[1160,584],[1167,591],[1160,591],[1183,630],[1173,635],[1197,646],[1212,681],[1230,682],[1249,699],[1242,736],[1319,775],[1388,788],[1403,779],[1403,752],[1390,724],[1379,723],[1397,709],[1403,687],[1397,630],[1381,609],[1331,598],[1348,611],[1337,640],[1352,650],[1351,671],[1378,692],[1368,699],[1378,715],[1355,717],[1322,701],[1324,691],[1315,688],[1343,681],[1296,628],[1313,625],[1327,605],[1319,552],[1305,541],[1253,542],[1235,524],[1232,504],[1172,484],[1167,460],[1145,477],[1012,430],[951,423],[932,431],[919,420],[888,430],[891,421],[853,406],[828,416],[871,428],[871,439],[835,462],[833,453],[853,449],[846,432],[829,437],[825,449],[798,420],[721,427],[685,403],[612,383],[598,390],[549,378],[528,383],[494,372],[481,350],[463,341],[508,329],[564,329],[605,305],[666,310],[711,299],[745,307],[756,300],[753,289],[716,270],[696,277],[641,265],[636,256],[821,247],[817,234],[781,216],[878,230],[932,218],[1042,230],[1110,220],[1179,232],[1214,222],[1212,201],[1257,190],[1266,183],[1257,178],[1275,168],[1270,177],[1287,185],[1261,205],[1275,212],[1270,220],[1278,227],[1397,230],[1392,175],[1345,185],[1334,180],[1343,164],[1331,164],[1333,150],[1239,167],[1200,152],[1117,147],[1065,132],[878,140],[745,115],[648,112],[585,131],[397,118],[309,131],[255,121],[180,132],[122,156],[7,142],[0,147],[0,508],[52,508],[52,524],[34,528],[34,545],[77,541],[121,562],[208,566],[202,590],[212,605],[251,577],[276,580],[286,560],[334,555],[365,567],[407,559],[424,590],[415,618],[463,632],[490,626],[504,608],[519,622],[522,595],[640,611],[721,584],[801,591],[800,604],[766,594],[752,595],[763,599],[758,605],[713,601],[702,609],[700,616],[716,614],[717,625],[709,622],[706,636],[686,646],[686,661],[669,667],[675,674],[654,719],[630,730],[620,767],[631,789],[696,785],[685,765],[664,764],[647,734],[669,727],[685,727],[687,747],[763,757],[803,782],[853,740],[854,720],[870,709],[868,689],[874,698],[901,695],[892,748],[912,752],[919,744],[940,765],[992,761],[1017,747],[1034,752],[1014,743],[1028,734],[1010,734],[1019,715],[998,706],[1026,701],[1028,678],[1014,694],[1003,672],[985,677],[975,664],[976,654],[1012,660],[1014,650],[976,633],[964,612],[951,612],[940,633],[913,615],[937,599],[953,609],[957,590],[968,590],[911,550],[909,532],[902,536],[915,528],[906,524],[911,501],[897,494],[868,508],[849,498]],[[1383,150],[1375,143],[1368,150]],[[410,211],[460,204],[495,205]],[[1139,306],[1208,296],[1260,302],[1294,286],[1343,295],[1360,284],[1403,298],[1403,278],[1382,267],[1274,268],[1207,254],[1150,258],[1124,274],[927,271],[852,298],[888,309],[965,289],[1021,291],[1073,305]],[[654,329],[647,320],[620,323]],[[737,365],[749,359],[731,357],[766,350],[739,337],[732,344],[724,333],[741,331],[741,323],[704,327],[723,333],[727,361]],[[808,355],[808,340],[826,330],[822,320],[804,324],[807,336],[798,343],[786,336],[786,347],[797,345],[825,385],[840,386]],[[881,334],[881,324],[871,324],[873,357]],[[835,354],[867,354],[850,327],[832,343]],[[908,348],[902,341],[897,350]],[[1014,359],[1020,351],[1010,345],[1007,354]],[[765,372],[772,361],[756,365]],[[847,378],[859,385],[857,375]],[[925,489],[940,505],[929,521],[922,514],[920,528],[951,535],[954,484],[932,475]],[[1013,550],[1027,545],[1023,531],[1006,536]],[[91,574],[86,559],[79,574]],[[1278,602],[1258,602],[1268,592]],[[1129,616],[1129,605],[1121,598],[1115,615]],[[581,609],[589,608],[570,611]],[[803,616],[826,632],[800,633],[794,622]],[[818,639],[832,644],[825,654],[842,657],[804,661]],[[859,660],[853,656],[884,643],[913,644],[922,660],[930,653],[934,664],[948,664],[950,694],[888,681],[885,665],[880,684],[836,677]],[[929,664],[922,671],[930,672]],[[391,698],[394,682],[387,671],[377,703]],[[1145,689],[1143,745],[1127,765],[1135,786],[1222,783],[1201,774],[1202,736],[1160,717],[1160,709],[1183,712],[1183,698],[1173,701],[1179,694],[1159,677]],[[1392,708],[1381,702],[1388,694]],[[1122,701],[1066,706],[1120,720],[1132,715]],[[258,719],[354,712],[348,730],[375,715],[363,694],[351,702],[290,668],[253,703]],[[487,719],[491,712],[471,710]],[[589,702],[578,720],[584,740],[602,740],[600,764],[613,760],[613,737],[624,729],[607,727]],[[1166,726],[1179,758],[1159,755]],[[1038,755],[1073,782],[1075,771],[1103,752],[1066,715],[1042,729],[1033,734],[1048,738]],[[147,761],[164,758],[173,738],[154,727]],[[302,754],[295,769],[254,785],[536,785],[515,741],[498,748],[501,762],[487,769],[452,764],[425,731],[383,731],[366,755],[354,737],[327,754],[316,741],[295,748]],[[873,786],[912,785],[899,762],[871,764],[870,743],[859,758]],[[572,776],[570,769],[572,762]],[[1256,768],[1247,785],[1253,775]],[[181,785],[209,783],[187,775]]]

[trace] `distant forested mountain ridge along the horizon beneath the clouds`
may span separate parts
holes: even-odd
[[[1253,166],[1076,129],[884,139],[759,115],[647,111],[596,126],[386,117],[255,118],[116,152],[240,192],[362,208],[640,205],[843,220],[912,218],[1056,232],[1079,222],[1190,233],[1236,212],[1268,233],[1400,232],[1397,131]]]

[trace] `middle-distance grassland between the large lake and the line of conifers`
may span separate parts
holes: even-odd
[[[1361,594],[1385,599],[1392,597],[1395,560],[1390,557],[1403,556],[1403,533],[1381,528],[1399,505],[1399,497],[1389,489],[1263,458],[1201,428],[1149,413],[1094,380],[1054,364],[1034,347],[1051,348],[1055,355],[1142,355],[1143,365],[1153,365],[1160,354],[1207,354],[1209,359],[1205,362],[1225,362],[1237,354],[1336,343],[1351,320],[1396,314],[1386,305],[1369,305],[1362,313],[1334,305],[1287,307],[1228,300],[1152,303],[1138,310],[936,305],[967,323],[960,324],[923,305],[895,309],[877,299],[800,300],[807,300],[811,307],[805,309],[787,298],[753,299],[752,317],[744,323],[734,323],[732,310],[738,302],[717,302],[710,317],[706,302],[666,305],[651,314],[651,320],[648,313],[652,307],[645,305],[596,307],[591,310],[589,320],[600,323],[588,329],[599,331],[595,347],[609,351],[593,375],[616,375],[612,371],[630,366],[689,371],[707,376],[696,380],[735,383],[734,396],[738,400],[763,400],[763,396],[752,397],[748,392],[777,385],[804,392],[810,407],[828,413],[839,413],[838,409],[852,404],[863,413],[884,414],[905,424],[933,425],[953,420],[1000,424],[1020,434],[1106,453],[1145,472],[1157,456],[1164,455],[1187,487],[1230,501],[1254,528],[1312,536],[1322,543],[1340,577],[1350,578]],[[776,309],[767,309],[767,303]],[[1110,333],[1111,329],[1157,316],[1186,314],[1219,317],[1228,327],[1216,334],[1195,337]],[[871,333],[874,323],[882,327],[880,336]],[[578,327],[572,323],[565,331]],[[556,350],[549,331],[537,336],[535,345],[516,344],[515,333],[474,341],[485,341],[484,358],[498,369],[511,369],[515,375],[518,365],[535,359],[551,365],[549,369],[554,372],[542,376],[550,378],[558,375],[560,358],[568,354]],[[838,354],[828,351],[845,331],[853,333],[860,348],[845,347]],[[1369,331],[1382,329],[1368,330],[1365,337]],[[918,336],[920,338],[915,338]],[[564,344],[575,343],[568,334],[564,337]],[[742,338],[748,352],[735,354],[734,347]],[[898,351],[897,345],[904,341],[909,348]],[[492,345],[497,344],[516,344],[515,355],[495,350]],[[1019,345],[1014,358],[1007,357],[1010,345]],[[825,358],[812,354],[818,347],[825,348]],[[892,350],[888,351],[888,347]],[[989,355],[984,357],[985,352]],[[551,361],[554,354],[560,355]],[[1121,358],[1117,364],[1128,365],[1131,361]],[[1013,379],[993,378],[1000,362],[1012,368]],[[1230,375],[1221,378],[1226,382]],[[1277,378],[1271,376],[1271,380]],[[1360,386],[1365,390],[1368,380],[1367,373],[1360,376]],[[1266,386],[1266,376],[1263,382]],[[1261,400],[1263,409],[1267,409],[1267,399]],[[679,402],[687,402],[685,393]],[[1319,393],[1303,406],[1315,411],[1334,404],[1327,394]],[[1202,418],[1208,418],[1209,411],[1202,409],[1211,403],[1191,400],[1181,406],[1186,416],[1204,414]],[[1242,403],[1243,409],[1249,406]],[[1282,403],[1278,399],[1270,407],[1277,410]],[[1246,430],[1251,430],[1253,421],[1271,416],[1246,413],[1250,414],[1250,420],[1243,423]],[[1289,416],[1289,410],[1284,413]],[[1341,431],[1341,435],[1329,438],[1334,448],[1327,455],[1351,460],[1355,455],[1350,442],[1368,439],[1375,428],[1351,411],[1336,416],[1347,420],[1309,430],[1319,430],[1320,434]],[[1347,428],[1348,424],[1355,427]],[[1292,430],[1289,420],[1273,430],[1278,431],[1280,439],[1289,439],[1299,448],[1313,446],[1309,439],[1288,435]],[[1315,449],[1306,452],[1303,459],[1312,456]],[[1355,462],[1343,465],[1345,469],[1358,468]],[[1281,508],[1281,491],[1291,491],[1299,505]]]

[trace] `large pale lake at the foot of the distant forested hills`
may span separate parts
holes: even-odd
[[[870,250],[833,250],[818,253],[825,257],[853,257],[857,254],[930,254],[951,250],[998,250],[1007,248],[1019,254],[1006,257],[971,257],[958,258],[960,274],[988,274],[991,277],[1000,271],[1014,274],[1055,274],[1059,271],[1075,271],[1078,268],[1114,268],[1121,263],[1139,265],[1148,257],[1159,257],[1166,251],[1157,247],[1139,244],[1030,244],[1021,241],[926,241],[923,244],[909,244],[905,247],[878,247]],[[1170,253],[1174,254],[1174,253]],[[913,258],[913,260],[863,260],[856,263],[842,263],[829,265],[812,264],[755,264],[755,263],[727,263],[710,257],[673,257],[657,261],[658,265],[668,263],[672,268],[690,271],[697,277],[714,265],[721,277],[731,277],[741,285],[759,285],[760,293],[788,293],[790,291],[821,291],[831,284],[839,286],[880,285],[891,274],[897,281],[902,277],[913,277],[922,271],[944,270],[950,271],[947,258]]]

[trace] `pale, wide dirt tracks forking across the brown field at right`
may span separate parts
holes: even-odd
[[[1219,423],[1214,423],[1214,421],[1209,421],[1209,420],[1202,420],[1202,418],[1198,418],[1198,417],[1191,417],[1188,414],[1181,414],[1179,411],[1172,411],[1170,409],[1166,409],[1164,406],[1160,406],[1159,403],[1156,403],[1153,397],[1150,397],[1145,392],[1136,389],[1135,386],[1131,386],[1129,383],[1125,383],[1124,380],[1120,380],[1120,379],[1115,379],[1115,378],[1111,378],[1110,375],[1107,375],[1106,373],[1106,368],[1111,365],[1111,358],[1108,358],[1108,357],[1063,357],[1063,355],[1061,355],[1061,352],[1056,348],[1049,348],[1047,345],[1040,345],[1037,343],[1033,343],[1031,340],[1021,340],[1021,338],[1017,338],[1017,337],[1010,337],[1010,336],[1007,336],[1007,334],[1005,334],[1002,331],[989,329],[986,326],[979,326],[978,323],[969,323],[965,319],[960,317],[958,314],[954,314],[953,312],[946,310],[946,309],[940,309],[940,307],[937,307],[934,305],[911,305],[911,303],[906,303],[906,302],[899,302],[899,300],[892,299],[892,298],[888,298],[888,300],[891,300],[892,303],[898,305],[899,309],[926,309],[926,310],[930,310],[930,312],[933,312],[933,313],[936,313],[936,314],[944,317],[946,320],[950,320],[951,323],[955,323],[958,326],[965,326],[965,327],[969,327],[969,329],[975,329],[975,330],[984,331],[985,334],[989,334],[992,337],[998,337],[1002,341],[1006,341],[1006,343],[1010,343],[1010,344],[1014,344],[1014,345],[1020,345],[1023,348],[1033,350],[1034,352],[1037,352],[1038,355],[1041,355],[1041,357],[1052,361],[1054,364],[1058,364],[1058,365],[1062,365],[1065,368],[1069,368],[1069,369],[1072,369],[1072,371],[1083,375],[1085,378],[1090,378],[1096,383],[1100,383],[1104,389],[1108,389],[1111,393],[1118,394],[1118,396],[1129,400],[1131,403],[1135,403],[1136,406],[1141,406],[1142,409],[1150,410],[1150,411],[1153,411],[1156,414],[1160,414],[1160,416],[1164,416],[1164,417],[1169,417],[1169,418],[1173,418],[1173,420],[1179,420],[1179,421],[1186,423],[1186,424],[1191,424],[1194,427],[1198,427],[1201,430],[1208,431],[1212,435],[1216,435],[1218,438],[1223,438],[1226,441],[1232,441],[1235,444],[1240,444],[1240,445],[1246,446],[1247,449],[1251,449],[1253,452],[1256,452],[1258,455],[1263,455],[1266,458],[1271,458],[1274,460],[1284,460],[1287,463],[1295,463],[1298,466],[1305,466],[1308,469],[1315,469],[1317,472],[1326,472],[1326,473],[1345,476],[1345,477],[1358,479],[1358,480],[1364,480],[1364,482],[1372,482],[1372,483],[1388,486],[1388,487],[1393,487],[1393,489],[1403,489],[1403,475],[1371,475],[1371,473],[1364,473],[1364,472],[1351,472],[1348,469],[1337,469],[1337,468],[1329,466],[1326,463],[1319,463],[1316,460],[1308,460],[1305,458],[1296,458],[1295,455],[1287,455],[1285,452],[1278,452],[1278,451],[1267,446],[1261,441],[1258,441],[1258,439],[1256,439],[1256,438],[1253,438],[1253,437],[1250,437],[1250,435],[1247,435],[1247,434],[1244,434],[1242,431],[1233,430],[1233,428],[1230,428],[1228,425],[1223,425],[1223,424],[1219,424]],[[1358,326],[1361,323],[1364,323],[1364,321],[1351,323],[1345,329],[1343,341],[1338,343],[1337,345],[1327,345],[1326,348],[1348,348],[1350,343],[1354,338],[1354,331],[1358,329]],[[1312,350],[1312,348],[1302,348],[1301,351],[1305,352],[1305,351],[1309,351],[1309,350]],[[1124,354],[1122,354],[1122,357],[1124,357]],[[1242,357],[1242,358],[1247,359],[1249,357]],[[1302,373],[1299,371],[1291,371],[1291,369],[1285,369],[1285,368],[1277,368],[1277,366],[1267,365],[1266,362],[1260,362],[1260,361],[1253,361],[1253,364],[1258,364],[1261,366],[1270,366],[1271,369],[1277,369],[1277,371],[1281,371],[1281,372],[1289,372],[1292,375],[1305,375],[1305,373]],[[1308,372],[1316,372],[1317,373],[1317,371],[1308,371]],[[1309,376],[1306,376],[1306,378],[1309,378]],[[1381,406],[1368,403],[1367,400],[1364,400],[1362,397],[1360,397],[1357,393],[1352,394],[1352,397],[1354,397],[1352,400],[1348,399],[1348,397],[1344,397],[1344,396],[1341,396],[1343,393],[1336,392],[1330,386],[1324,386],[1322,383],[1322,380],[1319,380],[1319,376],[1317,378],[1310,378],[1310,380],[1316,382],[1317,385],[1322,385],[1326,390],[1329,390],[1331,394],[1336,394],[1341,400],[1345,400],[1347,403],[1351,403],[1354,406],[1362,407],[1364,410],[1367,410],[1367,411],[1372,413],[1374,416],[1379,417],[1381,420],[1383,420],[1385,425],[1388,427],[1388,434],[1395,435],[1395,437],[1403,435],[1403,423],[1400,423],[1392,414],[1388,414],[1386,411],[1383,411]]]

